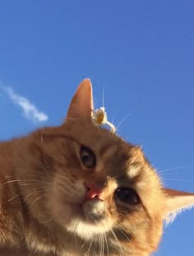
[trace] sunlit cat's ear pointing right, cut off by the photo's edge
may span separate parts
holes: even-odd
[[[164,189],[166,195],[164,204],[164,219],[167,223],[173,221],[178,213],[194,207],[194,193],[186,193],[173,189]]]

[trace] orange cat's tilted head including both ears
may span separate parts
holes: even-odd
[[[104,252],[146,255],[157,248],[164,220],[191,207],[194,195],[164,189],[141,147],[92,123],[92,102],[85,79],[62,126],[30,136],[25,175],[39,185],[26,202],[45,225],[89,243],[103,237]]]

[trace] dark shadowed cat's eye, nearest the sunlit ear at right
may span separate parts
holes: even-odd
[[[115,195],[121,202],[131,205],[136,205],[140,202],[140,198],[134,189],[119,188],[115,191]]]

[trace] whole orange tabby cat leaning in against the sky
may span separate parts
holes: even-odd
[[[147,256],[164,220],[194,206],[140,147],[94,125],[92,101],[85,79],[61,126],[0,144],[0,255]]]

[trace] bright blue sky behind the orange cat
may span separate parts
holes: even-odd
[[[193,12],[192,0],[0,2],[0,139],[61,123],[90,77],[115,125],[130,114],[118,133],[194,192]],[[178,216],[155,255],[193,255],[193,226],[194,209]]]

